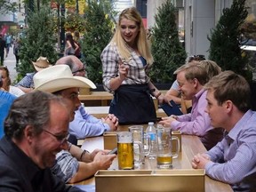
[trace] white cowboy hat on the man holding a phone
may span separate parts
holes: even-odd
[[[44,92],[58,92],[71,87],[95,89],[95,84],[83,76],[73,76],[68,65],[55,65],[38,71],[33,77],[35,89]]]

